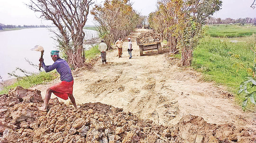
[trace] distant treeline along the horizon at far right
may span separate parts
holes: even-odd
[[[236,24],[239,23],[240,25],[244,26],[244,24],[252,24],[256,25],[256,18],[238,18],[238,19],[232,19],[232,18],[226,18],[226,19],[221,19],[221,18],[210,18],[207,19],[207,24]]]

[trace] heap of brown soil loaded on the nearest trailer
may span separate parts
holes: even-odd
[[[144,32],[141,33],[137,38],[137,44],[147,44],[147,43],[155,43],[161,42],[161,35],[154,32]]]

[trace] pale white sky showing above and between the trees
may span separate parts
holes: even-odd
[[[95,0],[95,4],[103,4],[104,0]],[[142,15],[148,15],[156,10],[157,0],[131,0],[133,8]],[[246,18],[256,17],[256,9],[252,9],[254,0],[222,0],[222,9],[213,17],[217,18]],[[52,22],[38,18],[39,13],[27,8],[25,3],[30,0],[0,0],[0,23],[5,25],[50,25]],[[92,15],[88,15],[86,25],[94,25]]]

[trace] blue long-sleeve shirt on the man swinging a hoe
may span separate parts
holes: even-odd
[[[68,66],[68,63],[65,60],[58,59],[50,66],[45,66],[44,62],[42,63],[45,72],[50,72],[56,68],[57,72],[60,74],[60,80],[71,82],[73,81],[73,76],[71,70]]]

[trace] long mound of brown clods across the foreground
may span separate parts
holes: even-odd
[[[232,124],[208,124],[184,116],[173,126],[140,119],[101,103],[72,105],[51,99],[47,112],[40,91],[18,87],[0,96],[0,143],[185,143],[255,142],[256,132]]]

